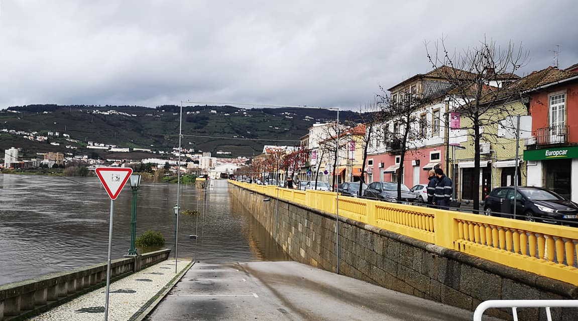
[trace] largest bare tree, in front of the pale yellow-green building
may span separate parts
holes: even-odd
[[[483,39],[477,46],[461,52],[450,53],[444,39],[433,43],[433,50],[426,44],[427,57],[434,68],[440,68],[442,77],[453,89],[447,96],[454,113],[466,118],[471,128],[467,135],[472,137],[474,172],[480,171],[480,141],[496,136],[486,126],[497,126],[500,120],[516,111],[507,109],[507,104],[520,100],[524,88],[507,83],[515,79],[515,73],[525,64],[529,55],[521,44],[509,42],[500,47],[492,40]],[[505,82],[506,80],[506,82]],[[479,180],[473,180],[473,208],[480,207]]]

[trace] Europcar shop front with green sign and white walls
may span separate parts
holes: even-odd
[[[578,146],[524,151],[528,185],[550,189],[560,196],[578,201],[572,183],[578,180]]]

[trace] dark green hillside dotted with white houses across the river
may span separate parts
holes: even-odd
[[[216,111],[216,113],[215,113]],[[352,111],[342,111],[340,119],[357,120]],[[335,111],[302,108],[241,109],[232,106],[183,107],[183,135],[238,137],[248,139],[299,140],[314,122],[335,120]],[[88,141],[118,147],[172,150],[178,144],[179,107],[155,109],[142,106],[58,106],[54,104],[9,107],[0,110],[0,130],[66,133],[66,141],[49,137],[48,142],[32,141],[21,135],[0,132],[0,150],[23,148],[25,154],[60,151],[75,154],[95,152]],[[60,143],[51,145],[50,142]],[[183,137],[183,148],[195,151],[230,151],[233,156],[260,154],[264,144],[297,145],[298,142],[235,140],[209,137]],[[77,147],[66,148],[65,145]],[[96,152],[99,152],[98,150]],[[105,153],[99,152],[104,155]]]

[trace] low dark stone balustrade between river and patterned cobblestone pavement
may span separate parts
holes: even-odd
[[[113,260],[111,279],[168,259],[171,249]],[[106,263],[0,286],[0,321],[24,319],[47,311],[106,284]]]

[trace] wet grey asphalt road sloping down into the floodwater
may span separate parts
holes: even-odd
[[[147,320],[472,320],[472,312],[297,262],[196,263]]]

